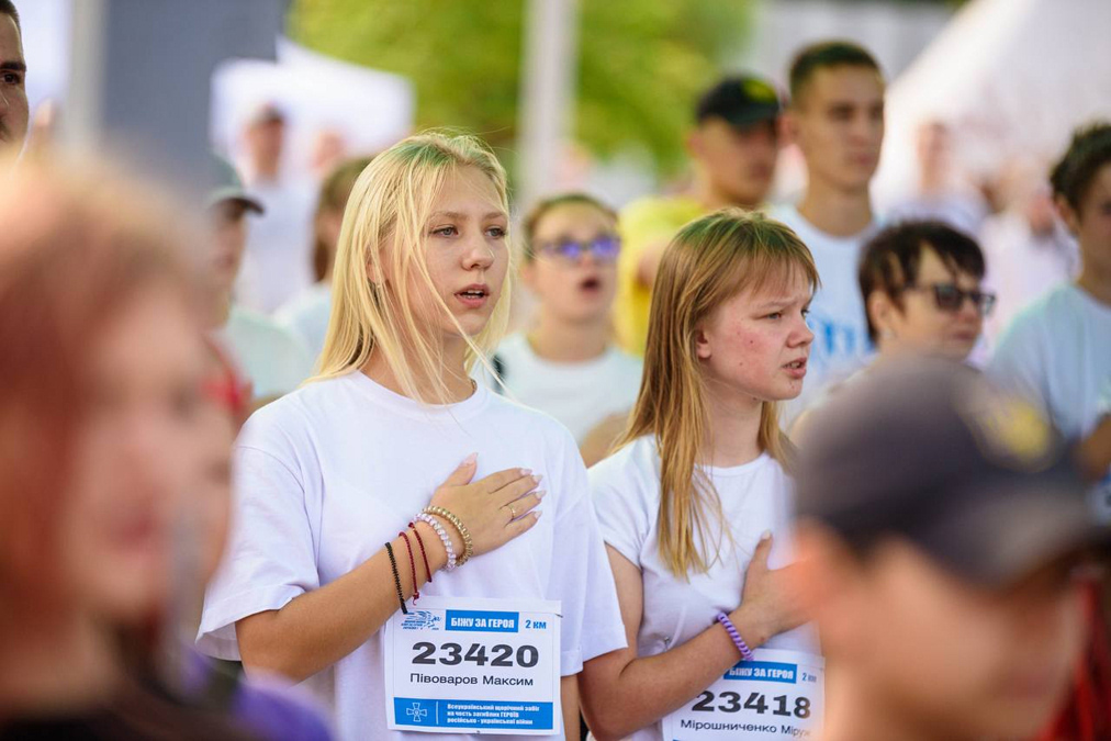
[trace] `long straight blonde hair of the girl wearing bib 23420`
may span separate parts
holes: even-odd
[[[443,349],[413,316],[412,307],[420,300],[433,300],[467,340],[467,371],[476,360],[487,362],[509,321],[512,271],[506,271],[490,321],[471,338],[440,298],[426,259],[426,231],[437,196],[446,177],[463,168],[476,168],[490,179],[508,214],[506,170],[474,137],[440,132],[409,137],[378,154],[356,180],[340,229],[332,313],[313,380],[360,369],[373,352],[381,352],[407,395],[426,403],[446,402]],[[390,276],[390,284],[373,284],[368,272]],[[414,276],[426,294],[410,290]],[[421,392],[418,378],[432,384],[430,397]]]

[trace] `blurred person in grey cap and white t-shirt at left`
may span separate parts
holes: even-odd
[[[207,200],[211,238],[201,264],[208,321],[251,382],[253,409],[296,389],[312,371],[312,360],[292,333],[232,299],[247,243],[247,214],[262,213],[263,208],[227,160],[213,156],[212,172]]]

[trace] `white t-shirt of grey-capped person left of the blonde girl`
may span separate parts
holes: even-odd
[[[232,304],[217,337],[231,349],[256,399],[289,393],[312,372],[301,341],[260,313]]]

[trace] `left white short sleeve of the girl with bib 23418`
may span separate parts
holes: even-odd
[[[629,475],[629,457],[624,453],[590,469],[591,501],[605,544],[639,567],[651,523],[644,493],[635,478]]]

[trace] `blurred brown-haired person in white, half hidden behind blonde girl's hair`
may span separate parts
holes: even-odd
[[[316,359],[324,349],[328,319],[332,313],[332,268],[340,241],[343,210],[359,174],[370,164],[369,157],[341,161],[320,184],[317,213],[312,220],[312,271],[317,282],[294,296],[274,314],[274,320],[304,343]]]

